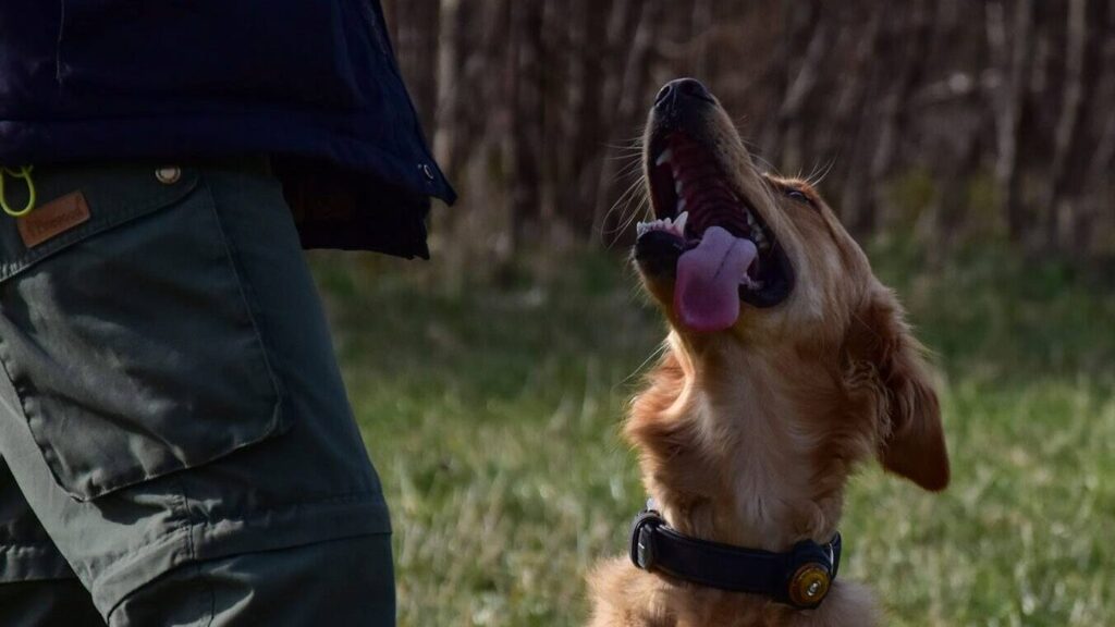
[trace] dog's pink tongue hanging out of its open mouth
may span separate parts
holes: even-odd
[[[739,280],[758,251],[746,238],[709,226],[678,260],[673,311],[696,331],[719,331],[739,317]]]

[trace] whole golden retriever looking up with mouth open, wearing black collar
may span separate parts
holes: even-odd
[[[591,625],[876,625],[837,529],[864,460],[949,482],[922,346],[832,209],[762,173],[697,80],[659,93],[643,166],[634,259],[670,331],[624,433],[652,511],[590,576]]]

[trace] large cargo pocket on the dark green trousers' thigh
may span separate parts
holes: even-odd
[[[0,363],[57,483],[80,501],[288,426],[212,194],[198,173],[173,173],[69,175],[22,224],[0,224]],[[47,234],[76,225],[29,238],[36,212]]]

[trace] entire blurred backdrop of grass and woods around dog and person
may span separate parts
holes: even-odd
[[[933,351],[952,484],[866,464],[841,577],[891,627],[1115,625],[1115,0],[386,0],[457,206],[311,255],[391,508],[400,627],[572,627],[646,498],[663,337],[634,139],[705,80]],[[845,566],[846,565],[846,566]]]

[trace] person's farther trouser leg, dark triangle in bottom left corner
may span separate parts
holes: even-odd
[[[104,627],[0,459],[0,625]]]

